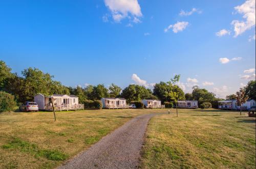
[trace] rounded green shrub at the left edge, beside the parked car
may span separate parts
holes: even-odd
[[[0,91],[0,112],[11,111],[16,106],[14,96],[9,93]]]

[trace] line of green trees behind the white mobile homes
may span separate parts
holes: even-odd
[[[11,68],[4,61],[0,61],[0,91],[11,94],[17,104],[33,101],[34,96],[38,93],[46,96],[72,94],[78,96],[80,103],[87,100],[99,100],[103,97],[123,97],[128,103],[142,99],[159,99],[162,104],[165,102],[175,104],[177,100],[197,100],[199,105],[207,102],[211,103],[212,107],[218,108],[218,101],[223,100],[217,98],[214,93],[198,86],[193,87],[192,93],[185,94],[177,85],[180,75],[176,75],[167,82],[160,81],[156,83],[153,90],[139,85],[129,85],[122,90],[114,83],[108,88],[103,84],[74,88],[64,86],[53,78],[53,75],[31,67],[23,70],[21,76],[19,76],[17,73],[12,73]],[[248,82],[245,91],[249,98],[255,99],[255,80]],[[230,95],[227,98],[234,97]]]

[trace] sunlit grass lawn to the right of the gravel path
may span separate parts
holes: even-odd
[[[214,109],[179,112],[151,119],[142,168],[255,168],[255,118]]]

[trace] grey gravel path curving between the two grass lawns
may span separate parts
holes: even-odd
[[[58,168],[136,168],[147,122],[155,115],[130,120]]]

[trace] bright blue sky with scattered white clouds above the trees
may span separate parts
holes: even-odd
[[[255,0],[1,1],[0,60],[66,86],[152,88],[181,74],[225,97],[255,79]]]

